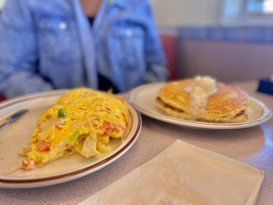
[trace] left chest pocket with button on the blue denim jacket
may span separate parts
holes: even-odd
[[[70,65],[80,59],[79,39],[72,17],[39,17],[37,35],[41,60]]]

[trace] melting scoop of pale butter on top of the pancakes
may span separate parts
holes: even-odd
[[[217,92],[216,80],[209,76],[196,76],[193,83],[187,85],[184,91],[190,94],[191,107],[205,112],[208,97]]]

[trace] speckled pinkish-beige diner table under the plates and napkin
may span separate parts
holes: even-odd
[[[233,83],[273,108],[273,97],[255,92],[255,81]],[[70,182],[35,189],[0,189],[0,204],[77,204],[139,167],[177,139],[238,159],[264,170],[257,204],[273,204],[273,118],[261,126],[241,130],[194,130],[142,116],[135,145],[111,165]]]

